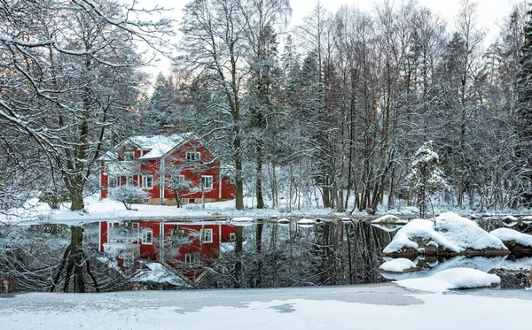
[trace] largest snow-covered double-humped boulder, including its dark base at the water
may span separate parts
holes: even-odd
[[[434,225],[435,222],[435,225]],[[504,255],[505,244],[470,219],[443,213],[434,221],[413,219],[403,226],[383,250],[385,256],[405,255]]]

